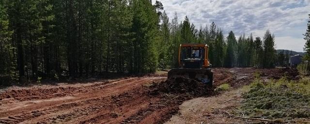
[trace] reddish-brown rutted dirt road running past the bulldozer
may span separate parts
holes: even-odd
[[[263,77],[279,75],[279,69],[217,68],[215,85],[248,84],[254,72]],[[148,86],[166,76],[120,78],[87,84],[14,87],[0,93],[0,123],[3,124],[157,124],[178,112],[187,99],[166,94],[149,95]]]

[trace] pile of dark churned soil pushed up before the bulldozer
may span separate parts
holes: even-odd
[[[210,95],[214,93],[214,87],[207,86],[202,82],[187,78],[172,78],[155,83],[150,86],[150,94],[171,93],[190,94],[192,96]]]

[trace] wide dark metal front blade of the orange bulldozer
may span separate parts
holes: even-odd
[[[190,78],[212,85],[213,72],[211,69],[175,68],[168,72],[168,78]]]

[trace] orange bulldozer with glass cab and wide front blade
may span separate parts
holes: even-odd
[[[190,78],[211,85],[213,72],[208,59],[208,45],[181,44],[178,52],[179,68],[168,72],[168,78]]]

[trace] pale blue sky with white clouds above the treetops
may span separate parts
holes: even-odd
[[[188,16],[199,29],[214,21],[225,36],[233,31],[260,36],[266,30],[275,35],[276,49],[302,52],[310,14],[310,0],[158,0],[170,20],[177,13],[178,21]],[[155,0],[152,0],[155,3]]]

